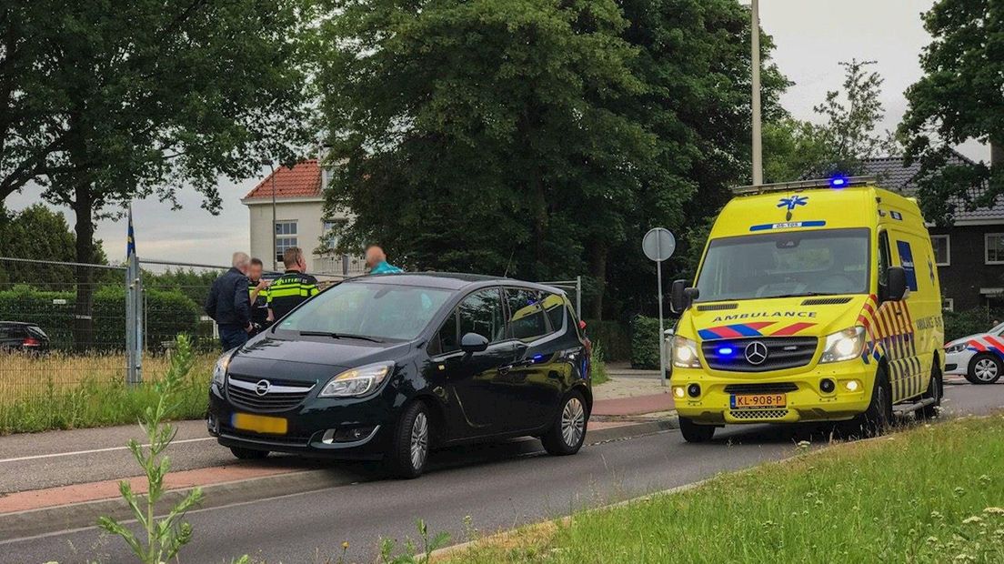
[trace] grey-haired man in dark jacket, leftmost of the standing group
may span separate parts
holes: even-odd
[[[246,253],[234,253],[231,264],[230,270],[213,281],[206,300],[206,314],[219,326],[220,343],[225,351],[248,342],[253,329],[247,278],[251,258]]]

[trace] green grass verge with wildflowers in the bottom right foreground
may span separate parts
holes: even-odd
[[[1002,461],[1004,415],[922,426],[489,537],[449,561],[1004,562]]]

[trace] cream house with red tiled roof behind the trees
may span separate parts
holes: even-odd
[[[279,167],[241,199],[250,215],[251,256],[260,258],[265,268],[281,271],[282,253],[299,247],[312,274],[363,272],[361,257],[326,251],[337,243],[331,239],[332,228],[351,219],[347,214],[324,215],[327,181],[327,171],[311,159]]]

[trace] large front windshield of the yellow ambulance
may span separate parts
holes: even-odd
[[[698,300],[866,293],[867,265],[866,229],[716,239],[698,276]]]

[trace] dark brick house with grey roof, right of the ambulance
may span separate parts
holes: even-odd
[[[971,163],[955,154],[951,164]],[[864,162],[866,174],[884,188],[916,195],[914,178],[920,164],[905,167],[900,157]],[[1004,309],[1004,202],[973,211],[960,209],[952,227],[929,225],[938,262],[944,307],[965,311],[976,307]]]

